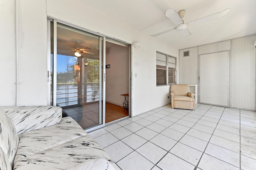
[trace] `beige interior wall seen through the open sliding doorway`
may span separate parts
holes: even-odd
[[[113,45],[106,49],[106,65],[108,64],[110,68],[106,69],[106,101],[123,107],[124,96],[121,94],[129,93],[129,47]]]

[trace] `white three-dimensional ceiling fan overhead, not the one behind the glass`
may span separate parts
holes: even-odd
[[[202,23],[202,22],[206,22],[206,21],[221,18],[222,16],[226,15],[229,12],[229,10],[230,10],[230,8],[228,8],[226,10],[223,10],[221,12],[217,12],[215,14],[211,14],[209,16],[205,16],[203,18],[199,18],[197,20],[190,21],[190,22],[184,24],[183,17],[184,17],[184,14],[185,14],[185,10],[180,10],[177,13],[173,8],[168,8],[165,11],[165,15],[166,15],[167,18],[169,18],[177,26],[175,28],[171,28],[169,30],[166,30],[166,31],[163,31],[163,32],[151,35],[151,36],[157,37],[157,36],[160,36],[162,34],[166,34],[168,32],[171,32],[173,30],[180,31],[182,33],[182,36],[184,36],[184,37],[190,36],[191,33],[188,30],[188,25],[191,26],[191,25],[194,25],[194,24],[197,24],[197,23]]]

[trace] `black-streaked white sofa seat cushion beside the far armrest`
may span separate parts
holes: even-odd
[[[20,142],[14,160],[25,158],[54,146],[58,146],[87,133],[71,117],[62,118],[56,125],[39,128],[19,135]]]

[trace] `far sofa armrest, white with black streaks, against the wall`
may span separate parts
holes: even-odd
[[[18,134],[55,125],[61,121],[62,109],[56,106],[3,106]]]

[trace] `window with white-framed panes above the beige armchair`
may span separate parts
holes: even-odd
[[[176,83],[176,58],[156,52],[156,85]]]

